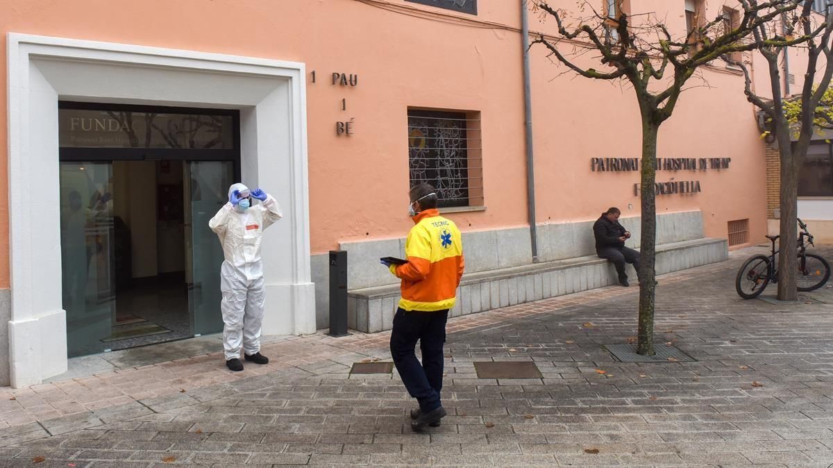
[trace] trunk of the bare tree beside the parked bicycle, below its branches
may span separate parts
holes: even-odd
[[[791,148],[787,148],[791,149]],[[788,154],[786,154],[788,153]],[[781,151],[781,237],[778,241],[778,300],[797,301],[798,166],[792,152]]]

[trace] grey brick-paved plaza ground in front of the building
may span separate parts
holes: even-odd
[[[449,416],[415,434],[396,371],[350,373],[390,361],[388,333],[275,337],[268,366],[234,374],[205,354],[212,341],[154,347],[155,364],[127,353],[0,390],[0,466],[831,466],[833,284],[743,301],[736,270],[756,251],[659,278],[656,346],[693,362],[606,350],[636,336],[636,287],[455,318]],[[202,354],[162,361],[183,349]],[[531,361],[541,378],[478,378],[487,361]]]

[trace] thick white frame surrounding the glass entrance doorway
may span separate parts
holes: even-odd
[[[263,242],[263,333],[315,332],[303,63],[18,33],[7,39],[12,386],[67,370],[58,100],[239,109],[242,182],[266,189],[284,212]]]

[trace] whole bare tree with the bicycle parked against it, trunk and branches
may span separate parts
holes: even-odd
[[[753,8],[757,0],[740,0],[744,7]],[[828,94],[833,77],[833,12],[828,7],[824,15],[812,11],[813,0],[800,0],[801,8],[785,12],[779,22],[761,24],[753,29],[753,43],[756,50],[766,58],[770,77],[772,98],[766,99],[752,92],[752,78],[746,64],[739,63],[746,76],[746,98],[766,113],[774,128],[781,160],[781,226],[779,250],[788,254],[797,246],[796,219],[798,217],[798,176],[810,147],[816,128],[830,128],[831,96]],[[822,17],[823,16],[823,17]],[[797,32],[797,33],[796,33]],[[797,40],[789,40],[798,36]],[[806,50],[807,67],[804,72],[804,86],[797,97],[784,96],[781,89],[781,68],[779,62],[788,52],[788,47],[801,42]],[[821,79],[816,82],[819,57],[825,57]],[[796,137],[793,146],[791,137]],[[798,262],[796,255],[781,255],[778,258],[778,299],[798,299]]]

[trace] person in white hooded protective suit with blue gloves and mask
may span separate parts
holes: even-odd
[[[253,206],[253,199],[261,203]],[[220,268],[222,291],[222,346],[226,366],[242,371],[242,348],[246,361],[266,364],[260,353],[263,322],[263,266],[260,249],[263,230],[281,219],[283,213],[271,195],[242,183],[228,189],[228,203],[217,212],[208,227],[217,232],[225,261]]]

